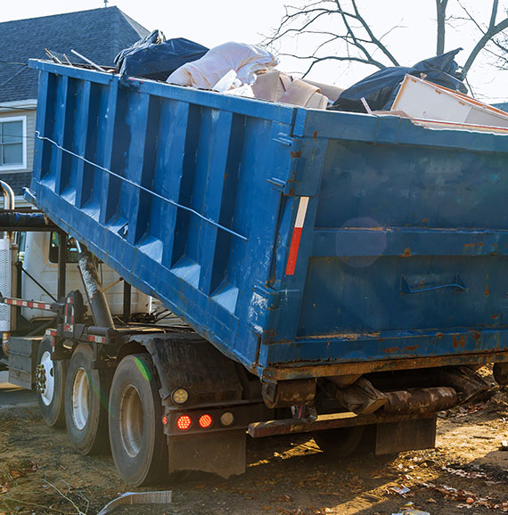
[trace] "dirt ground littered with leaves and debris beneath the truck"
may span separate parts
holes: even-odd
[[[225,480],[197,474],[171,489],[172,503],[122,507],[131,515],[430,515],[508,512],[508,389],[488,402],[440,413],[437,448],[334,461],[307,435],[248,440],[248,469]],[[404,492],[406,494],[397,493]],[[396,488],[396,490],[394,490]],[[151,490],[150,488],[137,491]],[[117,495],[111,456],[74,454],[64,430],[48,429],[37,408],[0,411],[0,515],[95,515]]]

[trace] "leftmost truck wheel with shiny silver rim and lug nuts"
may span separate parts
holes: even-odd
[[[52,339],[43,338],[37,353],[37,402],[45,423],[50,428],[62,428],[65,425],[63,388],[68,362],[53,361],[52,351]]]

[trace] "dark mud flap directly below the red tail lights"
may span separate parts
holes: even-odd
[[[245,429],[169,437],[169,472],[201,470],[229,478],[245,472]]]

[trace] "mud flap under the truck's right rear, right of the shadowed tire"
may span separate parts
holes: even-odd
[[[431,449],[436,445],[437,418],[377,424],[375,454]]]

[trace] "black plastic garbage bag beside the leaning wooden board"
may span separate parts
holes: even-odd
[[[361,98],[364,97],[372,110],[389,110],[406,74],[424,78],[438,86],[458,89],[462,93],[467,93],[467,88],[463,85],[463,78],[455,62],[455,55],[461,50],[462,48],[456,48],[450,52],[441,53],[417,62],[411,68],[394,66],[376,71],[373,75],[369,75],[344,90],[331,109],[365,112],[364,104],[361,101]]]

